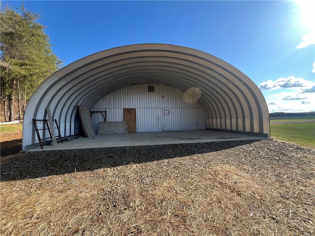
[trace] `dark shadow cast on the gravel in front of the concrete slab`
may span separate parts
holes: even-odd
[[[220,151],[259,140],[24,152],[0,167],[1,181],[63,175]]]

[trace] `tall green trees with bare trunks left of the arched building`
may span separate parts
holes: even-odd
[[[20,8],[0,11],[0,98],[2,121],[23,119],[34,90],[62,61],[53,53],[40,14]]]

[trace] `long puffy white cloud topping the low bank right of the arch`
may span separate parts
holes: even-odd
[[[315,85],[315,83],[313,84]],[[312,87],[312,82],[303,78],[289,76],[288,78],[280,78],[276,81],[268,80],[266,82],[262,82],[258,87],[261,90],[295,89],[302,87]]]

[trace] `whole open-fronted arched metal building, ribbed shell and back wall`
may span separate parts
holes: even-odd
[[[266,101],[250,78],[219,58],[176,45],[113,48],[55,72],[29,101],[22,149],[38,146],[32,119],[46,119],[46,107],[63,137],[80,132],[79,105],[106,110],[107,121],[122,121],[123,109],[134,108],[136,132],[214,129],[270,137]],[[92,120],[95,130],[103,121],[100,114]]]

